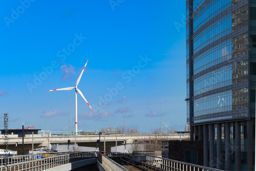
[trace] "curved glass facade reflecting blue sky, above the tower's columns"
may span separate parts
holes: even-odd
[[[248,1],[186,5],[187,123],[248,119]]]

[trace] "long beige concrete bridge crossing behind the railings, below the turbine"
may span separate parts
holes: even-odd
[[[183,141],[189,140],[189,134],[114,134],[114,135],[101,135],[101,149],[105,148],[107,152],[110,152],[110,148],[113,146],[123,145],[124,140],[126,144],[132,144],[134,141]],[[48,146],[48,139],[50,144],[68,144],[68,140],[71,141],[71,144],[76,144],[78,146],[88,146],[95,147],[96,141],[99,139],[99,135],[74,135],[72,136],[49,136],[48,135],[34,135],[33,144],[34,149]],[[22,154],[22,138],[15,137],[15,135],[8,135],[8,139],[2,137],[0,139],[0,149],[5,149],[5,144],[8,144],[8,149],[17,150],[18,154]],[[15,143],[18,143],[17,149],[15,149]],[[26,135],[24,138],[24,151],[25,154],[29,153],[29,150],[32,149],[32,135]]]

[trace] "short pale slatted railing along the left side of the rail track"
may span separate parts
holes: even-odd
[[[129,169],[123,167],[122,165],[118,164],[117,162],[111,160],[110,158],[106,157],[105,155],[98,153],[98,161],[103,165],[103,167],[110,171],[129,171]]]

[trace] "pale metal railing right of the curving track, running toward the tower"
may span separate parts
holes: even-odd
[[[147,155],[143,153],[133,152],[133,159],[142,163],[146,163],[160,169],[164,170],[214,170],[221,171],[216,168],[210,168],[205,166],[200,166],[191,163],[185,163],[181,161],[176,161],[172,159],[162,158],[153,155]]]

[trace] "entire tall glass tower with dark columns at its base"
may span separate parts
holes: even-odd
[[[204,165],[255,169],[256,0],[186,1],[187,124]]]

